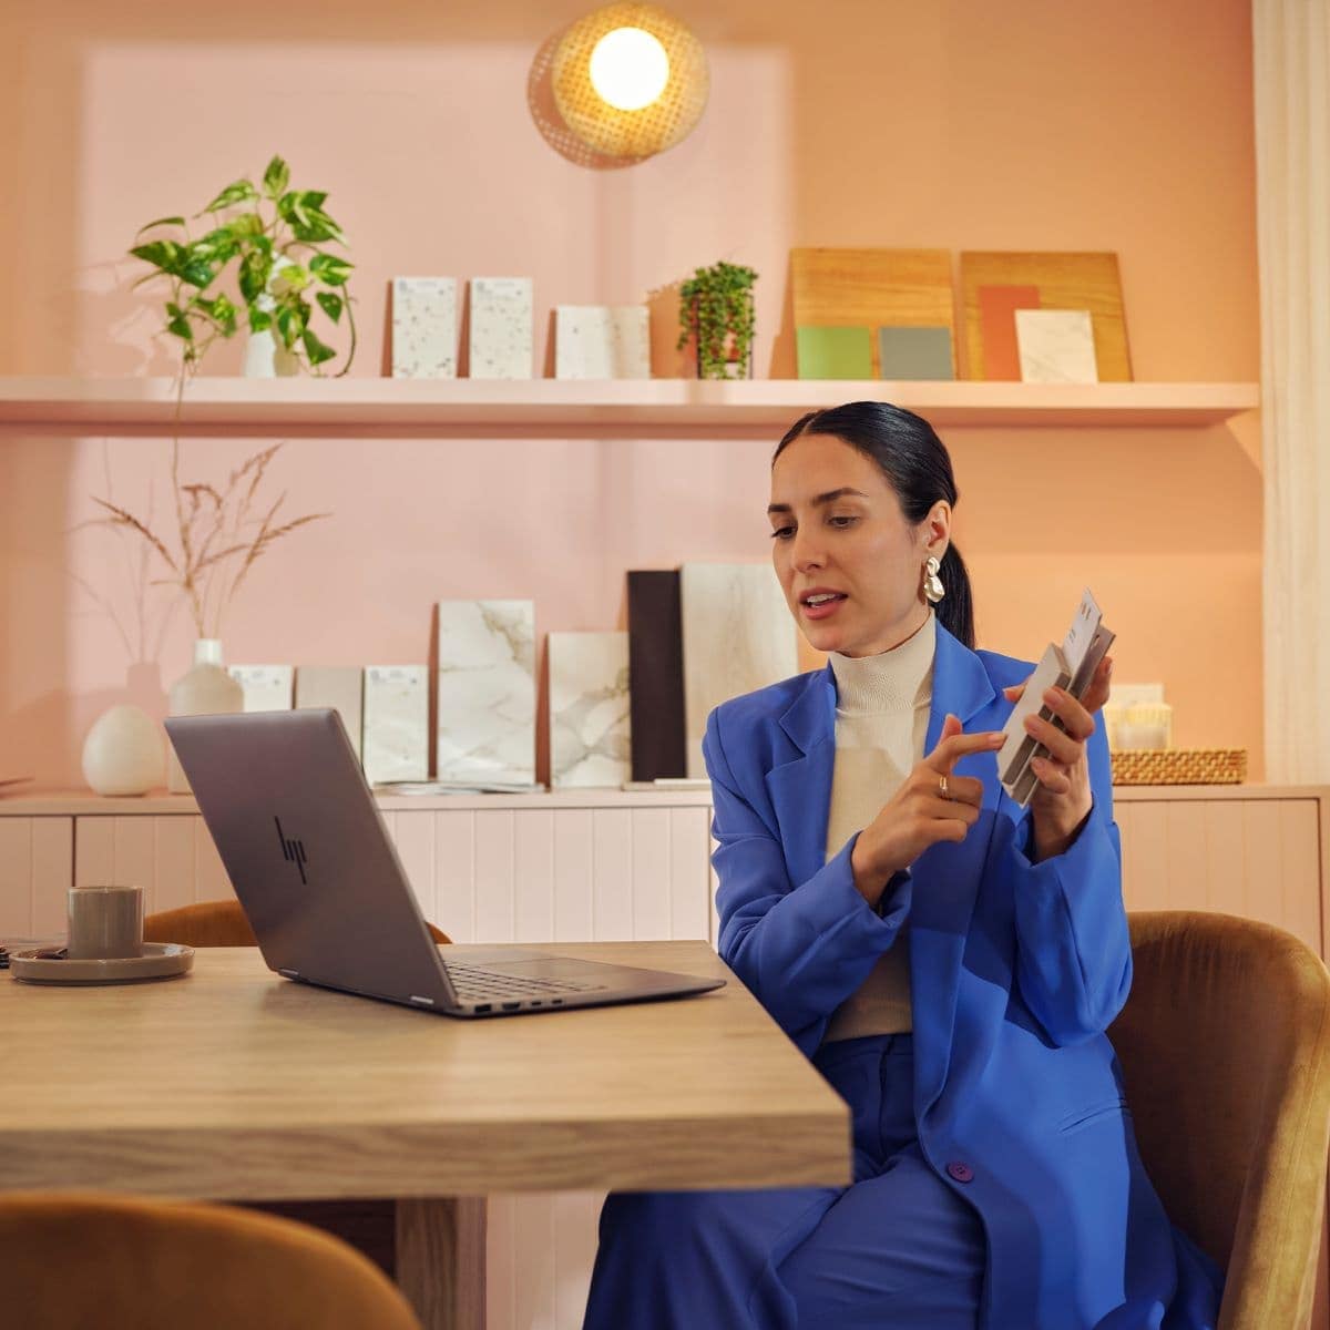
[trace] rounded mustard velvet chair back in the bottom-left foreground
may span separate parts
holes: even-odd
[[[24,1330],[420,1330],[392,1282],[325,1233],[105,1194],[0,1197],[0,1297]]]

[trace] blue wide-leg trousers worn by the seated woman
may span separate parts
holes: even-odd
[[[919,1150],[911,1036],[814,1063],[854,1116],[854,1184],[610,1196],[584,1330],[975,1330],[983,1228]]]

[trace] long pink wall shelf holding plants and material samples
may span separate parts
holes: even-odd
[[[890,383],[697,379],[242,379],[189,384],[182,432],[309,438],[755,438],[863,398],[939,427],[1202,427],[1260,406],[1254,383]],[[172,434],[173,380],[0,378],[0,436]]]

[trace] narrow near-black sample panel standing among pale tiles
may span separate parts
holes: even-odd
[[[678,572],[628,575],[633,779],[688,775]]]

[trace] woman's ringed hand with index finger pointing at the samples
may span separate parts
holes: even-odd
[[[870,906],[876,907],[891,876],[908,868],[928,846],[966,839],[979,821],[984,786],[974,777],[952,775],[952,769],[971,753],[995,753],[1001,745],[1000,730],[966,734],[960,721],[947,716],[938,746],[859,833],[850,854],[855,888]]]

